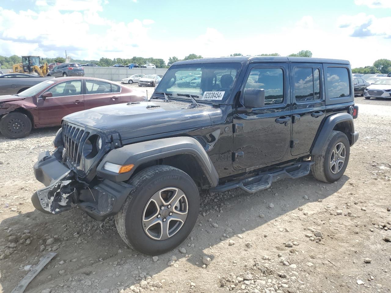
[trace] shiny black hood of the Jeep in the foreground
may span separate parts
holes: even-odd
[[[209,104],[190,107],[190,102],[152,100],[108,105],[65,116],[63,119],[106,134],[119,133],[121,139],[131,139],[165,132],[195,129],[212,125],[221,109]]]

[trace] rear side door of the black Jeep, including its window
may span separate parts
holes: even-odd
[[[291,63],[291,79],[291,154],[301,155],[310,151],[326,116],[322,64]]]

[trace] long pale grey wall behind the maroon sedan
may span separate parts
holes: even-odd
[[[97,77],[100,79],[108,79],[118,81],[125,79],[133,74],[164,74],[167,68],[126,68],[126,67],[89,67],[84,66],[84,76]]]

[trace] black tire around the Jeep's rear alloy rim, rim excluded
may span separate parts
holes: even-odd
[[[343,143],[344,146],[345,146],[345,149],[346,149],[346,157],[345,157],[345,162],[344,162],[344,165],[341,169],[341,171],[339,171],[337,174],[334,174],[331,172],[330,170],[330,166],[329,166],[329,163],[330,163],[330,156],[331,156],[331,153],[332,153],[332,150],[334,148],[334,146],[337,144],[337,143]],[[331,140],[330,140],[330,143],[329,145],[327,146],[327,150],[326,150],[326,153],[325,153],[325,159],[324,159],[324,162],[323,162],[323,168],[325,170],[325,177],[327,179],[328,182],[334,182],[334,181],[337,181],[338,179],[340,179],[342,177],[342,175],[344,174],[347,166],[348,166],[348,163],[349,163],[349,157],[350,157],[350,144],[349,144],[349,140],[348,138],[346,137],[346,134],[344,134],[343,132],[339,132],[338,134],[336,134]]]

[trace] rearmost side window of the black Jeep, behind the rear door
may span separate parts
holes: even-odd
[[[327,68],[327,88],[329,98],[350,96],[350,82],[347,68]]]

